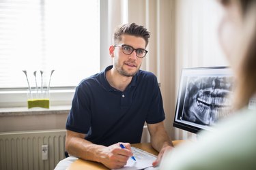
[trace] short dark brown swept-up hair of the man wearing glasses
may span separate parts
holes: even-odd
[[[119,41],[122,41],[122,35],[134,35],[136,37],[142,37],[145,39],[145,47],[147,47],[148,39],[150,38],[150,32],[147,31],[143,26],[131,23],[131,24],[122,24],[115,30],[113,34],[113,43],[117,44]]]

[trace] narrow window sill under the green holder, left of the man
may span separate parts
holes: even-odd
[[[70,105],[56,105],[50,106],[49,109],[34,107],[28,109],[27,107],[1,107],[1,116],[27,116],[27,115],[43,115],[43,114],[68,114],[70,112]]]

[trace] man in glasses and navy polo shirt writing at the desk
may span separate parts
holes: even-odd
[[[113,66],[76,88],[66,124],[70,155],[111,169],[124,167],[132,156],[130,143],[141,141],[145,122],[152,146],[160,152],[153,166],[173,147],[163,124],[165,112],[156,76],[140,70],[149,38],[150,33],[134,23],[117,28],[109,48]]]

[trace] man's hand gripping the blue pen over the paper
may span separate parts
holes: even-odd
[[[132,156],[130,143],[122,143],[126,148],[122,149],[119,143],[106,147],[100,153],[100,162],[110,169],[119,169],[126,165]]]

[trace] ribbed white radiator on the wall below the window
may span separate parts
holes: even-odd
[[[65,140],[65,129],[0,133],[0,170],[52,170],[65,158]],[[47,160],[42,145],[48,145]]]

